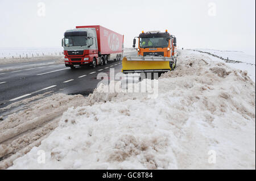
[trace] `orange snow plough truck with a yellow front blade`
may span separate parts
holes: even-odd
[[[176,37],[168,31],[149,31],[139,37],[138,56],[123,57],[123,73],[164,73],[174,70],[177,62]],[[135,48],[136,39],[133,40]]]

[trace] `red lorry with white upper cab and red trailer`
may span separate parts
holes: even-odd
[[[109,60],[122,60],[123,35],[102,26],[77,26],[62,39],[65,66],[106,65]]]

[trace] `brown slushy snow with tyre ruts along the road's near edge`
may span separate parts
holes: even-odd
[[[0,169],[13,165],[14,159],[40,145],[40,141],[57,127],[64,111],[85,101],[82,95],[54,94],[32,102],[38,98],[40,95],[14,103],[10,107],[23,103],[27,108],[0,121]]]

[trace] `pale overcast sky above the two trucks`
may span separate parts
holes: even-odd
[[[255,55],[255,0],[0,0],[0,14],[0,48],[57,47],[65,30],[101,25],[125,35],[125,47],[142,30],[167,29],[179,48]]]

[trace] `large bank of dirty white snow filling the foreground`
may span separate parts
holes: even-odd
[[[184,50],[158,86],[157,98],[95,90],[9,169],[255,169],[255,83],[245,71]]]

